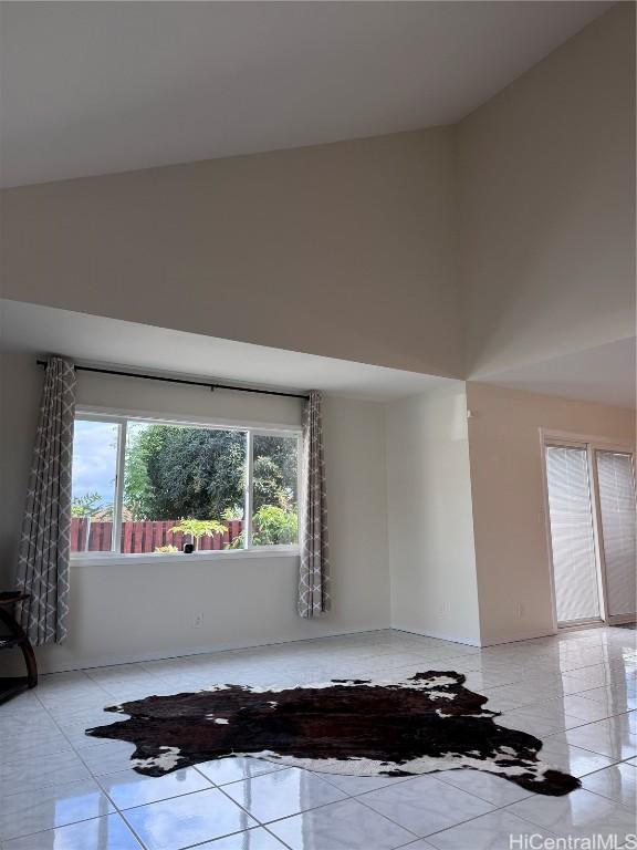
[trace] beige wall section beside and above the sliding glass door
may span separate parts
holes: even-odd
[[[550,634],[540,428],[634,445],[635,411],[471,382],[467,404],[482,642]]]

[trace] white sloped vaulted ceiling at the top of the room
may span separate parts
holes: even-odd
[[[2,3],[3,185],[453,123],[609,6]]]

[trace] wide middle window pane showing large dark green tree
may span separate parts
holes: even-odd
[[[243,546],[242,431],[128,422],[119,550]]]

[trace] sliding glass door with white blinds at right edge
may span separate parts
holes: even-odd
[[[587,443],[545,443],[558,626],[635,616],[634,457]]]

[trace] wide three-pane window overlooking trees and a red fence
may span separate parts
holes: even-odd
[[[296,429],[79,414],[71,551],[295,547],[299,444]]]

